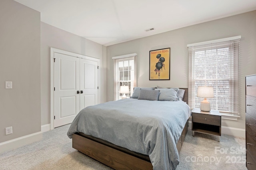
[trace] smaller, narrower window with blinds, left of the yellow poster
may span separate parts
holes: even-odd
[[[137,85],[136,57],[136,53],[112,57],[114,61],[114,100],[122,99],[120,86],[129,86],[129,93],[125,94],[126,96],[130,97],[133,93],[133,89]]]

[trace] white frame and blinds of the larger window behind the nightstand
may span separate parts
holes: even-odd
[[[232,105],[232,109],[231,109],[231,113],[230,112],[225,112],[224,110],[220,110],[220,113],[222,114],[222,119],[230,119],[230,120],[236,120],[237,121],[237,118],[240,117],[239,116],[239,106],[238,106],[238,62],[239,62],[239,40],[240,40],[241,36],[236,36],[236,37],[229,37],[229,38],[225,38],[225,39],[217,39],[217,40],[212,40],[212,41],[205,41],[205,42],[201,42],[201,43],[194,43],[194,44],[189,44],[187,45],[188,47],[188,57],[189,57],[189,95],[188,95],[188,104],[190,107],[198,107],[198,102],[201,102],[202,98],[197,98],[196,97],[196,92],[197,92],[197,88],[196,88],[196,81],[204,81],[205,82],[205,86],[211,86],[211,84],[208,84],[207,81],[209,80],[212,80],[212,82],[214,81],[218,81],[218,80],[228,80],[229,81],[229,84],[230,86],[233,86],[233,91],[232,93],[229,92],[229,105]],[[229,45],[228,45],[229,44]],[[236,46],[237,47],[236,47]],[[194,60],[195,60],[195,53],[196,51],[205,51],[207,49],[216,49],[216,53],[218,53],[218,49],[222,49],[224,47],[227,47],[229,46],[228,48],[228,52],[232,53],[232,54],[235,54],[235,59],[234,61],[231,61],[231,63],[229,62],[229,64],[233,64],[232,67],[234,67],[233,69],[235,70],[234,72],[234,76],[233,77],[230,77],[229,78],[195,78],[195,76],[193,74],[195,74],[193,71],[195,70],[195,64],[194,64]],[[212,54],[212,53],[211,53]],[[207,55],[205,55],[207,56]],[[217,57],[219,55],[216,55]],[[214,57],[216,57],[214,56]],[[193,59],[194,57],[194,59]],[[233,63],[234,62],[234,63]],[[237,66],[236,66],[237,64]],[[232,71],[232,70],[231,70]],[[205,71],[206,72],[206,71]],[[215,86],[216,87],[216,86]],[[218,88],[219,89],[219,88]],[[230,89],[228,89],[230,90]],[[218,102],[218,98],[216,98],[216,88],[214,90],[214,93],[215,93],[215,99],[213,100],[216,100],[216,104]],[[235,97],[235,102],[234,104],[232,104],[232,101],[233,101],[233,98],[230,98],[230,95],[231,97]],[[199,101],[200,100],[200,101]],[[210,103],[212,104],[211,102],[211,99],[208,99],[210,100]],[[196,104],[197,103],[197,104]],[[200,107],[200,105],[199,105]],[[217,108],[214,108],[214,109],[218,109],[218,104],[216,106]]]

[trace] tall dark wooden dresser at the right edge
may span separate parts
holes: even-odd
[[[246,167],[256,170],[256,74],[245,77],[246,84]]]

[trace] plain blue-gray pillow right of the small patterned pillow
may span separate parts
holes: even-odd
[[[160,101],[178,101],[178,88],[156,88],[155,90],[160,92],[158,98]]]

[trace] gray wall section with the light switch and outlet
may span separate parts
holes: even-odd
[[[0,143],[41,131],[40,13],[0,1]],[[12,81],[12,89],[5,89]],[[12,126],[13,133],[5,135]]]

